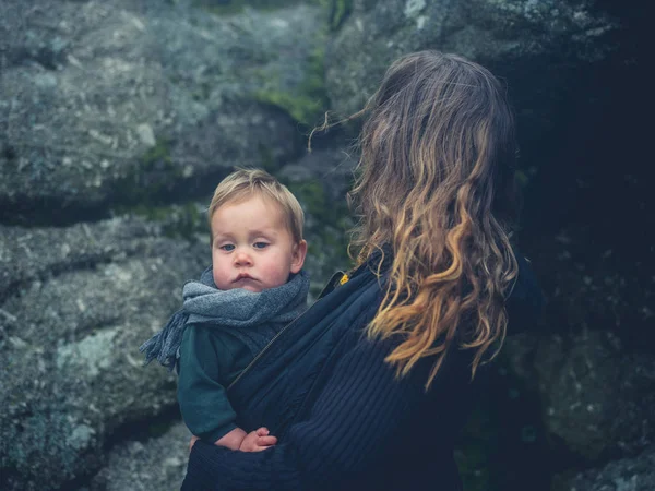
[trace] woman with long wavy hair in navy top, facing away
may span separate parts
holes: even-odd
[[[288,376],[288,398],[270,398],[286,415],[279,443],[248,454],[199,442],[183,490],[461,489],[452,453],[472,380],[508,320],[534,322],[541,304],[510,246],[511,110],[486,69],[422,51],[390,67],[362,113],[359,266],[310,312],[348,289],[359,300],[330,324],[311,383]]]

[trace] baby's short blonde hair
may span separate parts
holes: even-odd
[[[216,209],[226,203],[241,202],[252,196],[263,196],[277,203],[285,216],[285,220],[295,242],[302,240],[305,213],[294,194],[277,179],[261,169],[237,169],[223,179],[212,197],[207,209],[210,230],[212,217]]]

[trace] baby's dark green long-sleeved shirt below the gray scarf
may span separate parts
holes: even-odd
[[[178,363],[178,402],[191,433],[214,443],[237,428],[226,387],[254,355],[228,330],[202,325],[184,330]]]

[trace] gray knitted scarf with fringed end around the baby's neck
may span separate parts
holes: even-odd
[[[207,267],[199,282],[187,282],[182,289],[183,306],[162,331],[139,347],[144,364],[156,359],[172,370],[190,324],[216,327],[251,327],[263,323],[289,323],[307,307],[309,275],[301,271],[284,285],[252,292],[242,288],[219,290]]]

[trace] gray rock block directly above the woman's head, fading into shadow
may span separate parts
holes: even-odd
[[[359,110],[386,67],[421,49],[456,52],[492,67],[498,75],[539,84],[543,95],[565,88],[571,69],[580,70],[614,49],[607,38],[618,26],[593,2],[568,0],[355,0],[353,13],[326,57],[333,108]],[[531,67],[529,70],[525,70]],[[523,87],[528,91],[534,87]],[[533,97],[534,101],[534,97]],[[535,108],[532,108],[535,110]],[[545,106],[545,109],[547,107]],[[543,115],[541,115],[543,116]]]

